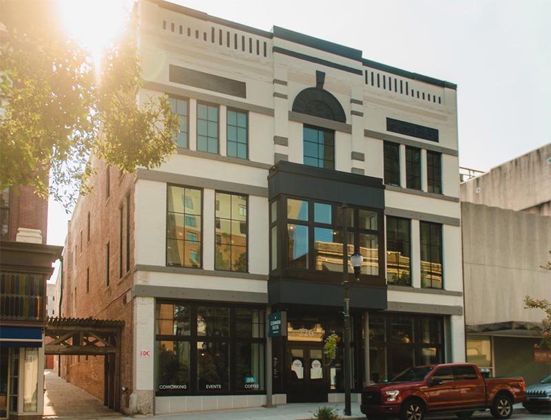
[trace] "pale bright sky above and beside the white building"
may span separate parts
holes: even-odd
[[[488,171],[551,142],[551,0],[175,0],[276,25],[457,85],[459,165]],[[97,25],[96,25],[97,28]],[[48,243],[67,215],[50,200]]]

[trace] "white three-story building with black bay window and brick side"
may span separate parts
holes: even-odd
[[[139,98],[169,95],[178,151],[135,176],[93,162],[61,317],[124,322],[121,387],[101,357],[63,357],[62,374],[132,413],[342,400],[342,340],[332,363],[323,340],[342,337],[343,230],[364,255],[355,397],[464,361],[455,85],[165,1],[136,13]],[[266,337],[278,311],[287,336]]]

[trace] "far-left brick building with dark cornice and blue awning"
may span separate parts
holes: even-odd
[[[41,419],[46,282],[61,246],[45,245],[48,201],[1,193],[0,419]]]

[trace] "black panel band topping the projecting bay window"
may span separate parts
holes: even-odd
[[[280,161],[270,169],[269,199],[280,194],[384,209],[384,184],[381,178],[293,162]]]

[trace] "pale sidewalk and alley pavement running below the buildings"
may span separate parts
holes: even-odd
[[[344,403],[301,403],[283,404],[274,408],[242,408],[231,410],[214,410],[201,412],[184,412],[178,414],[158,414],[156,416],[126,416],[103,406],[103,402],[87,394],[77,386],[57,376],[57,372],[45,370],[44,420],[309,420],[321,406],[336,408],[338,414],[346,420],[364,420],[360,405],[353,403],[352,416],[344,416]],[[477,412],[473,419],[492,419],[488,410]],[[457,420],[453,414],[436,414],[428,416],[430,420]],[[514,406],[512,419],[549,420],[550,413],[530,414],[521,404]]]

